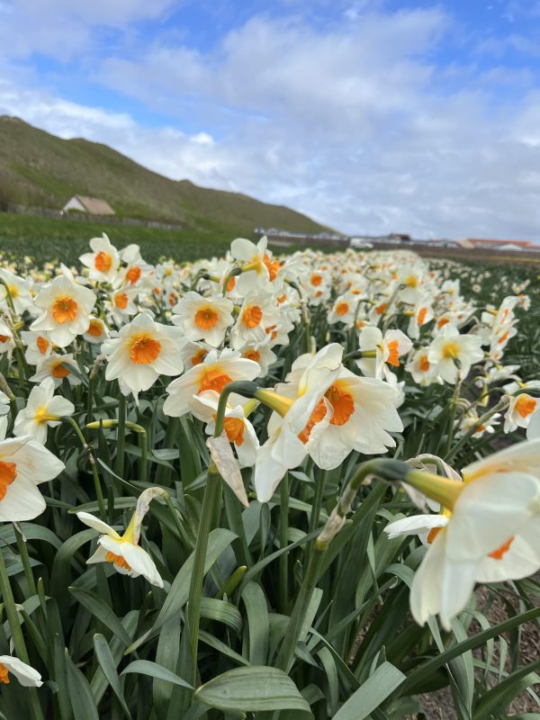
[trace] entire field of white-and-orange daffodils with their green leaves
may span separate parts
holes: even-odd
[[[539,272],[4,259],[0,717],[538,717]]]

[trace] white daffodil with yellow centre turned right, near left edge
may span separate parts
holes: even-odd
[[[50,377],[31,389],[26,407],[19,411],[15,419],[14,436],[30,435],[45,445],[47,428],[56,428],[62,418],[73,415],[73,402],[59,395],[55,397],[54,390],[54,381]]]

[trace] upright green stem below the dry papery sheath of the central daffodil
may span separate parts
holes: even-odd
[[[189,597],[187,605],[187,626],[189,640],[193,657],[193,681],[197,673],[197,649],[199,643],[199,625],[201,622],[201,600],[202,581],[204,580],[204,563],[206,550],[208,548],[208,536],[210,535],[211,518],[215,506],[220,498],[220,474],[215,465],[211,464],[208,470],[208,481],[204,489],[202,499],[201,521],[197,532],[197,543],[193,557],[193,572],[189,586]]]

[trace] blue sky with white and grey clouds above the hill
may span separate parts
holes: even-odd
[[[0,114],[350,233],[540,242],[540,0],[0,0]]]

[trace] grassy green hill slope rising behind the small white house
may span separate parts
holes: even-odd
[[[7,202],[59,209],[77,193],[103,198],[120,216],[181,222],[220,235],[251,235],[257,226],[325,229],[283,205],[170,180],[106,145],[60,139],[0,116],[0,209]]]

